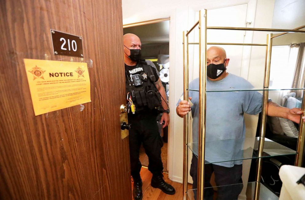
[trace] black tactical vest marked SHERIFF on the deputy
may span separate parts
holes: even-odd
[[[137,71],[132,77],[129,76],[125,68],[126,75],[126,94],[136,106],[136,114],[141,112],[162,112],[161,95],[155,86],[156,77],[152,67],[143,60],[139,61],[137,67],[142,67],[142,71]],[[131,113],[131,112],[129,112]]]

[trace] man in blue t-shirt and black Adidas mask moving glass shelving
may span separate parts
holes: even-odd
[[[215,174],[219,187],[217,199],[237,199],[242,190],[242,160],[245,138],[244,113],[258,114],[262,111],[262,94],[253,91],[253,86],[247,80],[226,72],[229,59],[221,47],[213,46],[207,50],[207,90],[226,91],[208,92],[206,97],[206,148],[204,186],[212,187],[210,179]],[[238,89],[249,91],[236,91]],[[197,91],[196,91],[197,90]],[[232,91],[230,91],[232,90]],[[199,120],[199,79],[189,83],[188,101],[179,100],[176,113],[183,117],[192,111],[192,142],[193,157],[190,175],[193,179],[193,189],[197,188],[198,163],[198,120]],[[301,109],[288,109],[279,106],[270,99],[267,104],[267,115],[287,118],[299,123]],[[305,119],[304,119],[305,121]],[[221,162],[224,160],[234,160]],[[195,193],[196,196],[196,193]],[[213,190],[204,190],[204,199],[212,199]]]

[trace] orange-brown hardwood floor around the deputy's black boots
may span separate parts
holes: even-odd
[[[152,173],[148,171],[147,168],[142,167],[140,172],[142,181],[143,181],[143,200],[181,200],[183,199],[183,185],[182,183],[173,182],[170,179],[168,179],[168,174],[163,173],[165,182],[171,184],[175,190],[176,194],[174,195],[168,195],[162,192],[160,189],[153,188],[150,185],[150,181],[152,179]],[[133,184],[132,184],[133,185]]]

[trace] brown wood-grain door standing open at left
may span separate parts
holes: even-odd
[[[0,199],[131,199],[121,0],[0,1]],[[35,116],[24,58],[59,60],[50,29],[82,37],[91,100]]]

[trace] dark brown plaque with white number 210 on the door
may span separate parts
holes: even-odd
[[[83,58],[83,45],[80,36],[51,29],[54,55],[75,56]]]

